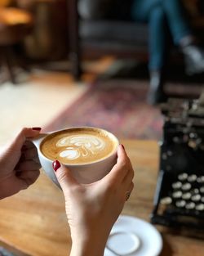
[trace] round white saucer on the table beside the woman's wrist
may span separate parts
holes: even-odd
[[[149,222],[120,215],[107,241],[104,256],[157,256],[162,236]]]

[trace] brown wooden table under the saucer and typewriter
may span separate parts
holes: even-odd
[[[122,213],[149,221],[157,182],[157,142],[122,141],[122,144],[135,168],[135,189]],[[166,227],[157,229],[164,240],[163,256],[201,256],[204,252],[203,240],[189,234],[181,236],[179,231]],[[0,201],[0,240],[32,256],[68,255],[71,240],[64,197],[43,172],[28,190]]]

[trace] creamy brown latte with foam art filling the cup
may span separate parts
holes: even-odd
[[[90,164],[112,155],[118,140],[100,128],[69,128],[54,132],[41,142],[42,155],[63,164]]]

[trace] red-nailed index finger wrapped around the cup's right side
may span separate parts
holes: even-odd
[[[122,182],[128,172],[129,164],[130,159],[126,155],[126,151],[122,145],[119,145],[117,164],[113,166],[112,170],[104,177],[104,179],[113,179],[113,181],[117,180],[118,182]]]

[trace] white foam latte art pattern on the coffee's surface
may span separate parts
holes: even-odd
[[[105,143],[99,137],[92,135],[63,137],[56,142],[56,147],[66,147],[60,150],[60,157],[67,159],[78,159],[88,155],[96,155],[99,150],[103,150]]]

